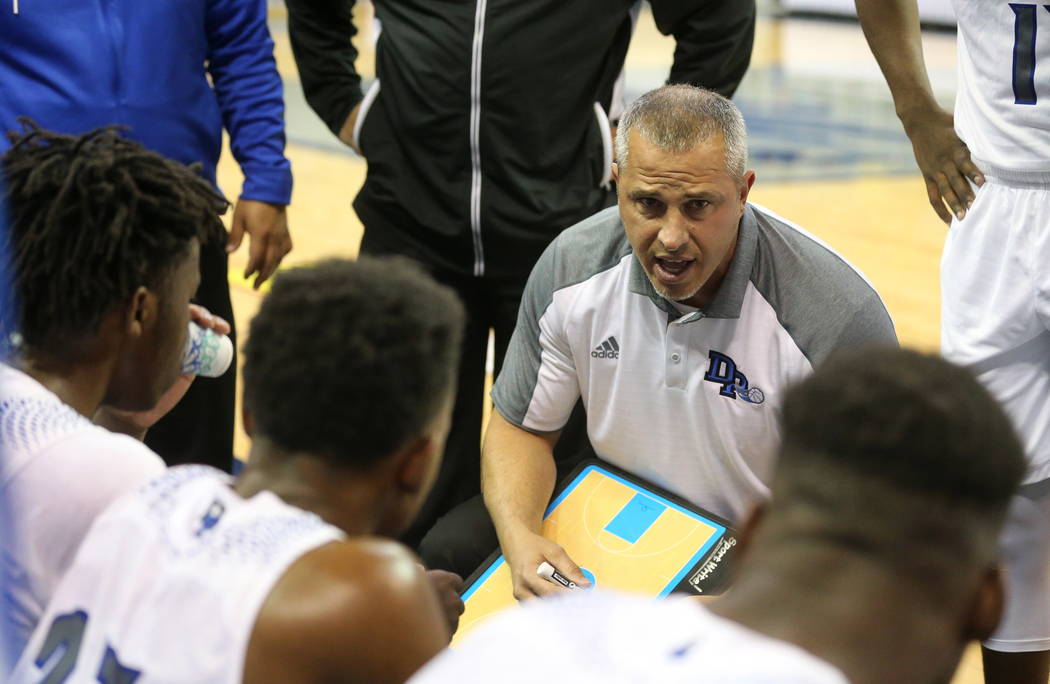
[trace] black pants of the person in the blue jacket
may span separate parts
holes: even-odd
[[[233,326],[227,279],[226,242],[201,246],[201,287],[194,299]],[[236,335],[230,332],[236,349]],[[226,472],[233,467],[233,414],[237,359],[222,377],[198,377],[174,409],[146,433],[146,444],[168,465],[207,463]]]

